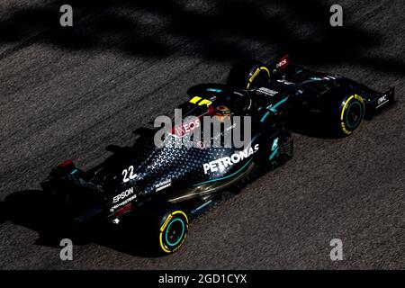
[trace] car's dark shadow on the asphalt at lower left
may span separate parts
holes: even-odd
[[[38,233],[34,245],[60,247],[60,240],[70,238],[74,245],[89,243],[112,248],[136,257],[159,257],[142,237],[139,220],[122,220],[120,225],[94,224],[77,228],[51,212],[40,190],[11,193],[0,202],[0,224],[11,221]]]

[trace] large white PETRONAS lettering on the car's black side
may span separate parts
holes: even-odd
[[[204,163],[202,165],[204,169],[204,174],[209,174],[211,172],[217,172],[217,171],[224,171],[225,168],[229,166],[233,166],[234,164],[237,164],[238,162],[242,161],[243,159],[246,159],[248,157],[251,157],[254,153],[257,152],[259,148],[259,145],[256,144],[254,148],[248,147],[242,151],[237,151],[234,154],[232,154],[230,157],[221,157],[219,159],[213,160],[209,163]]]

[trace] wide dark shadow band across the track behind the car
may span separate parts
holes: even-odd
[[[212,61],[270,58],[266,53],[276,50],[289,51],[301,64],[347,63],[405,74],[403,59],[370,55],[371,49],[383,46],[386,31],[350,25],[350,13],[345,13],[344,27],[331,27],[330,4],[318,0],[193,4],[73,0],[69,1],[74,9],[74,27],[70,28],[59,25],[61,4],[65,3],[10,11],[10,17],[0,22],[0,43],[15,42],[18,48],[40,42],[72,50],[111,49],[149,58],[179,52]],[[380,18],[389,19],[390,15],[381,11]],[[0,58],[14,50],[3,51]]]

